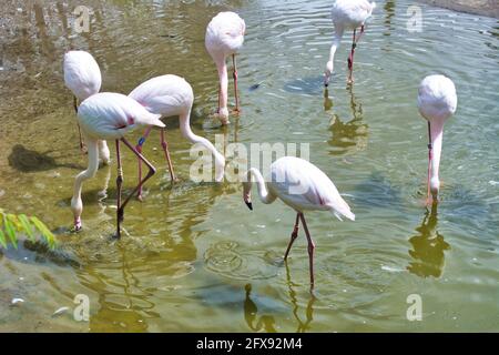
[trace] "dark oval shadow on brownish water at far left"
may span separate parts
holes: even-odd
[[[78,164],[59,164],[54,158],[49,155],[51,151],[40,153],[29,150],[22,144],[16,144],[12,146],[12,152],[8,156],[9,165],[23,173],[48,171],[58,168],[84,169]]]

